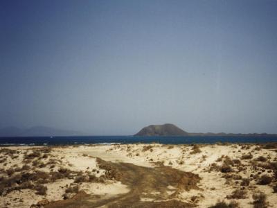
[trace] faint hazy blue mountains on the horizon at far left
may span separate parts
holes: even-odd
[[[73,130],[60,130],[45,126],[34,126],[32,128],[26,129],[17,127],[7,127],[0,129],[0,137],[51,137],[77,135],[81,135],[81,133]]]

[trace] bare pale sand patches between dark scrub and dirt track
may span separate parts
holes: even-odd
[[[138,166],[156,166],[154,162],[163,162],[167,166],[172,166],[172,168],[177,168],[181,171],[188,171],[195,174],[199,174],[202,180],[199,182],[199,190],[181,191],[177,200],[182,200],[184,202],[193,202],[192,197],[197,198],[197,207],[208,207],[214,205],[217,200],[225,200],[226,196],[230,195],[235,189],[240,187],[240,183],[236,184],[235,180],[231,180],[231,184],[226,184],[226,179],[222,177],[225,173],[220,171],[210,171],[211,164],[216,163],[221,165],[222,162],[217,162],[219,157],[222,155],[228,155],[231,159],[240,159],[244,154],[251,153],[253,159],[262,155],[264,157],[270,158],[270,162],[276,161],[277,153],[273,150],[254,150],[257,146],[251,145],[249,149],[242,149],[242,146],[229,145],[207,145],[201,146],[201,153],[190,154],[192,151],[192,146],[169,146],[161,144],[151,144],[152,150],[143,151],[144,146],[149,146],[148,144],[132,144],[132,145],[112,145],[112,146],[69,146],[66,148],[53,148],[51,155],[57,161],[60,161],[57,166],[53,169],[54,171],[60,167],[69,168],[71,171],[92,171],[95,169],[96,176],[103,175],[105,170],[98,168],[96,163],[96,157],[101,159],[111,161],[111,162],[127,162],[136,164]],[[7,170],[11,166],[17,164],[19,167],[22,166],[23,154],[28,150],[28,147],[10,147],[10,149],[19,150],[19,157],[15,159],[8,158],[6,161],[6,166],[0,164],[0,168]],[[3,156],[3,155],[2,155]],[[49,158],[44,159],[43,162],[47,162]],[[253,160],[252,159],[252,160]],[[245,171],[240,171],[240,173],[235,173],[241,175],[242,177],[249,178],[253,172],[251,164],[249,164],[249,159],[240,159]],[[42,171],[49,171],[48,167],[40,168]],[[261,175],[272,175],[273,173],[267,173],[265,171]],[[0,176],[6,177],[4,173]],[[46,196],[39,196],[35,194],[35,191],[25,189],[21,191],[12,191],[6,196],[0,197],[0,207],[30,207],[33,203],[38,202],[44,198],[48,200],[60,200],[64,194],[66,185],[70,186],[73,180],[63,179],[57,180],[54,183],[46,184],[48,190]],[[240,182],[240,181],[239,181]],[[262,191],[267,195],[267,202],[270,206],[274,207],[277,204],[277,193],[273,193],[272,184],[269,185],[258,185],[256,181],[251,180],[250,187],[247,187],[247,198],[245,199],[235,199],[239,202],[240,207],[253,207],[251,202],[253,202],[252,194],[256,191]],[[89,194],[115,196],[120,193],[127,193],[129,191],[128,187],[120,182],[107,182],[105,184],[96,182],[84,182],[80,186],[82,190]],[[171,187],[172,193],[175,191],[175,187]],[[152,193],[159,194],[159,193]],[[18,198],[18,200],[15,200]],[[19,202],[23,200],[23,202]],[[145,196],[141,200],[148,201],[152,200]]]

